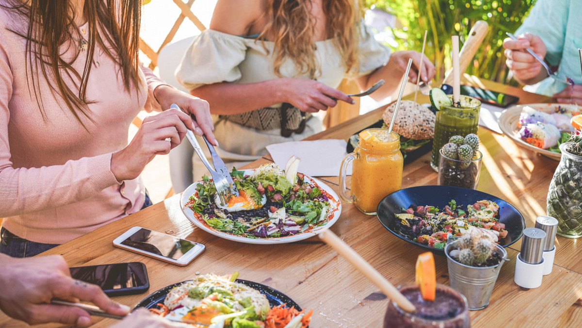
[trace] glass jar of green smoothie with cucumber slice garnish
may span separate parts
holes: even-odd
[[[449,95],[449,98],[452,97]],[[435,171],[438,171],[439,150],[449,142],[450,137],[477,134],[481,101],[469,96],[460,96],[457,105],[459,106],[442,106],[441,110],[437,111],[431,158],[431,167]]]

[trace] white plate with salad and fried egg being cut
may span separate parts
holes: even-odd
[[[226,206],[218,205],[216,188],[205,177],[182,193],[182,211],[197,227],[231,241],[285,244],[313,237],[338,220],[342,204],[328,185],[297,173],[294,163],[286,171],[274,163],[233,170],[240,196]]]

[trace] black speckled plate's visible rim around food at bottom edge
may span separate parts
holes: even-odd
[[[147,297],[142,299],[135,306],[135,308],[159,309],[158,303],[164,302],[166,295],[172,290],[172,288],[174,288],[178,285],[181,285],[183,283],[186,283],[187,281],[190,281],[190,280],[186,280],[186,281],[182,281],[181,283],[175,283],[175,284],[166,286],[166,287],[162,288],[161,290],[158,290],[158,291],[148,295]],[[297,311],[301,311],[301,307],[295,301],[293,301],[293,299],[289,298],[287,295],[283,294],[282,292],[280,292],[278,290],[275,290],[269,286],[265,286],[263,284],[255,283],[255,282],[249,281],[249,280],[237,279],[235,281],[237,283],[245,284],[251,288],[254,288],[255,290],[260,291],[261,294],[263,294],[267,297],[267,299],[269,300],[269,305],[271,305],[271,307],[286,303],[287,306],[289,306],[289,307],[295,306],[295,309],[297,309]]]

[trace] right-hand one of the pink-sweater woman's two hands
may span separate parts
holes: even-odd
[[[192,131],[199,136],[206,135],[208,141],[214,146],[218,146],[214,133],[212,133],[214,124],[212,124],[210,106],[208,106],[207,101],[165,85],[155,88],[154,94],[162,110],[167,110],[172,104],[176,104],[186,114],[193,115],[195,121]]]

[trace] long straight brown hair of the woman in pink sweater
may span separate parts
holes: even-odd
[[[27,4],[16,0],[13,6],[5,8],[15,10],[29,22],[26,31],[12,31],[26,38],[26,70],[32,81],[29,91],[34,93],[43,117],[46,115],[38,93],[38,76],[41,74],[51,86],[52,93],[63,98],[84,128],[86,126],[80,115],[94,122],[87,106],[94,103],[94,100],[87,99],[87,82],[93,66],[95,45],[118,66],[127,92],[142,83],[138,59],[140,0],[85,0],[83,18],[88,24],[88,42],[83,72],[77,72],[72,66],[80,55],[80,48],[69,61],[60,55],[61,46],[81,40],[79,28],[73,21],[71,0],[30,0]],[[73,88],[65,83],[63,76],[73,81]]]

